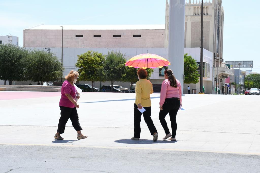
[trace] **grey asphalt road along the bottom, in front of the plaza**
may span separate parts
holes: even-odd
[[[0,172],[260,172],[260,156],[1,145]]]

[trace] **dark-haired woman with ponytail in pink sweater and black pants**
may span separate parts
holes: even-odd
[[[162,82],[160,95],[159,120],[166,134],[163,139],[167,139],[171,136],[169,140],[176,141],[176,115],[178,110],[181,109],[181,84],[179,80],[175,79],[171,69],[167,69],[164,71],[164,78],[165,80]],[[170,133],[165,121],[165,116],[168,113],[170,115],[172,125],[172,134]]]

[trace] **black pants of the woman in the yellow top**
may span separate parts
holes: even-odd
[[[155,132],[157,133],[157,130],[153,124],[153,120],[151,119],[151,106],[150,107],[144,107],[145,112],[141,113],[137,109],[137,105],[134,104],[134,137],[140,138],[140,133],[141,133],[141,115],[143,114],[144,120],[148,126],[148,129],[150,130],[151,135],[153,135]]]

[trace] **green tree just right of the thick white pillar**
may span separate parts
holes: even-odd
[[[196,84],[199,82],[196,60],[187,53],[184,54],[184,84]]]

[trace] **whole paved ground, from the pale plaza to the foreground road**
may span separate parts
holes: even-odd
[[[143,119],[131,140],[134,93],[85,93],[78,114],[88,138],[78,141],[69,121],[55,141],[57,93],[0,92],[0,172],[260,172],[260,96],[186,95],[176,142],[161,140],[151,96],[156,142]]]

